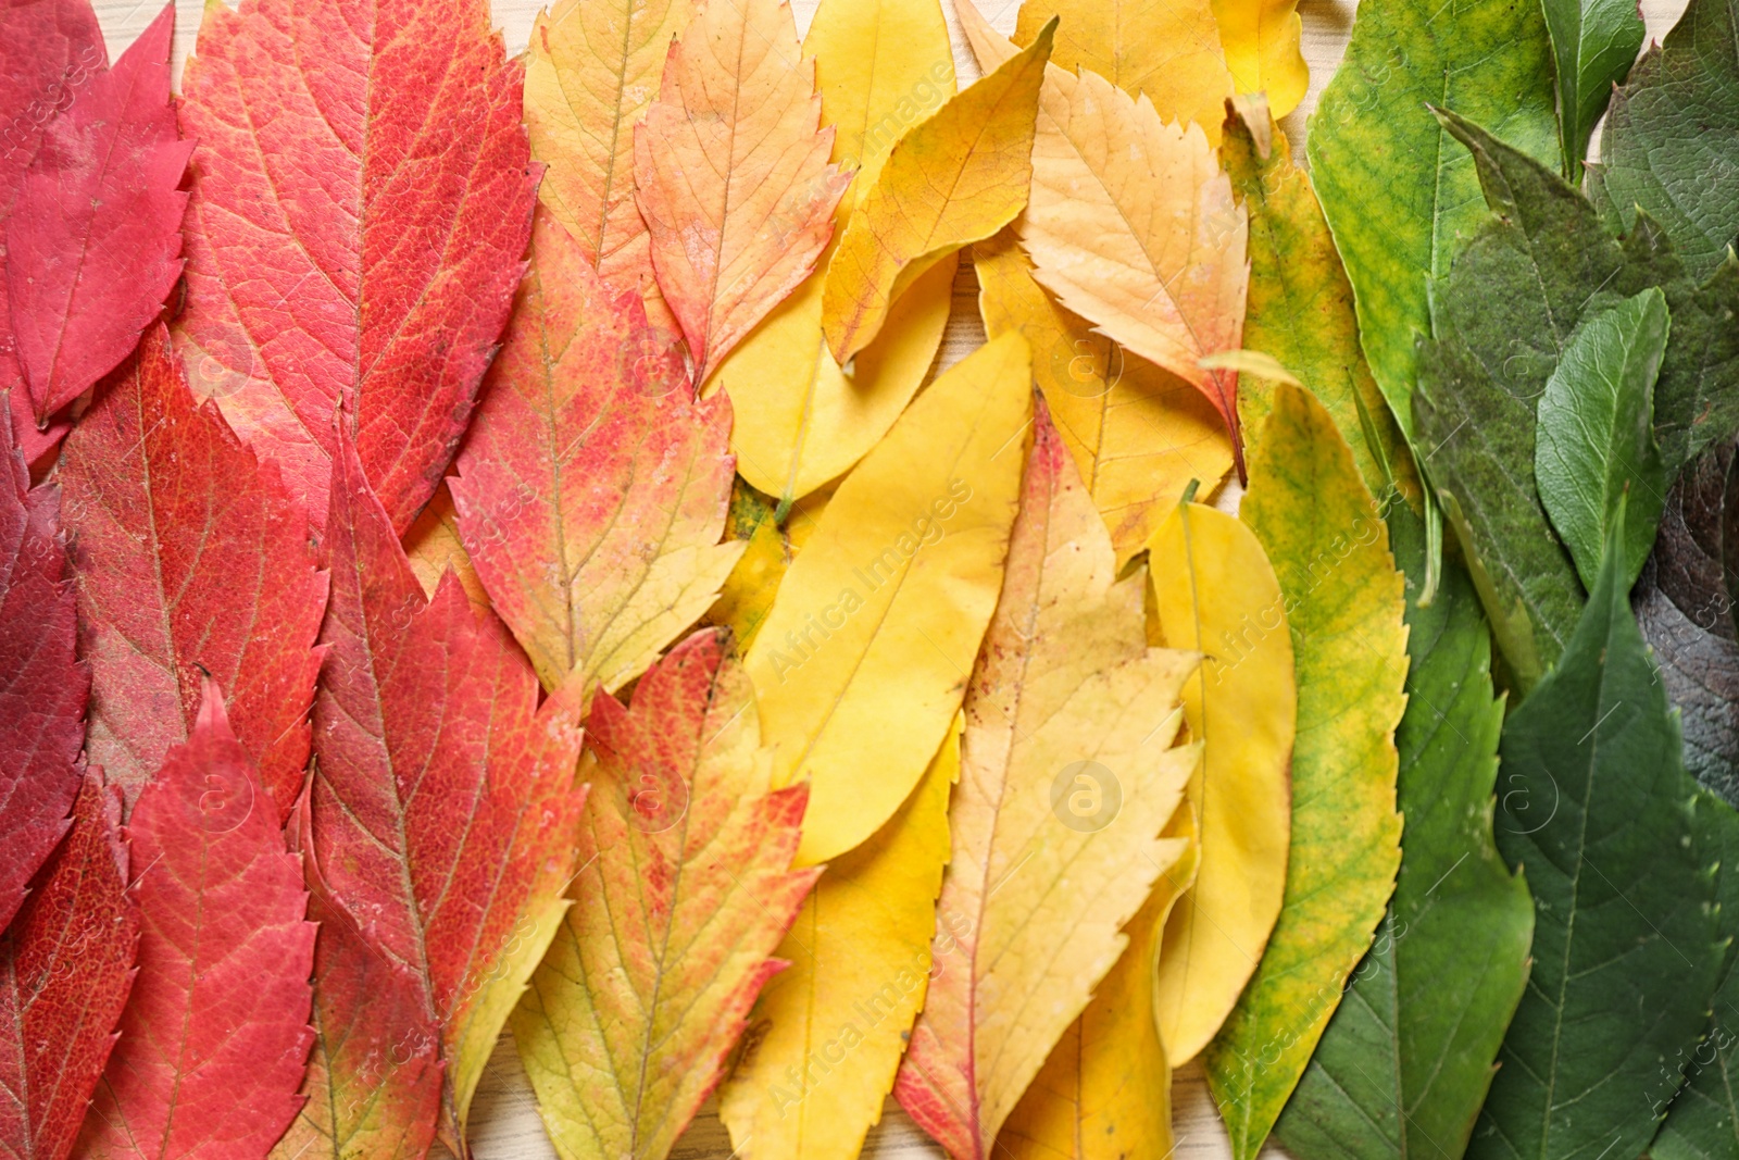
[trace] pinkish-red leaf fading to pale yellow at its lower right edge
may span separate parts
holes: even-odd
[[[729,0],[718,0],[729,3]],[[730,400],[696,403],[636,294],[546,214],[459,475],[459,536],[546,689],[619,689],[697,621],[741,548]]]

